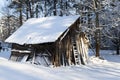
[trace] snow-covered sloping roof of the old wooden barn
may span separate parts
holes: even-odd
[[[5,42],[21,45],[54,42],[78,18],[78,15],[31,18]]]

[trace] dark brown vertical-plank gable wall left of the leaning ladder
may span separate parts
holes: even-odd
[[[65,34],[63,33],[60,38],[56,41],[56,53],[54,56],[54,64],[55,66],[67,66],[67,65],[73,65],[74,57],[73,57],[73,51],[72,51],[72,43],[71,38],[75,37],[76,30],[79,30],[79,19],[72,24],[69,27],[69,32],[66,34],[66,36],[60,40],[60,38]]]

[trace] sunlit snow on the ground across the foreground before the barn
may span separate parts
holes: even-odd
[[[120,56],[101,51],[104,60],[90,57],[83,66],[43,67],[0,58],[0,80],[120,80]]]

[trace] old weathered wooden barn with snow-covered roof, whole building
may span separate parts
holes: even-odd
[[[38,65],[86,64],[88,39],[80,16],[54,16],[27,20],[5,42],[12,43],[10,60]]]

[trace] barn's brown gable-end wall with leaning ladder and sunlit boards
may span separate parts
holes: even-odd
[[[80,31],[79,19],[71,25],[56,41],[55,66],[85,65],[88,60],[89,40]]]

